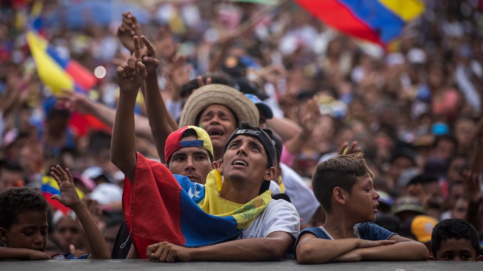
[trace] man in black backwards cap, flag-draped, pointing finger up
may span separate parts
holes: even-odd
[[[215,163],[218,169],[208,175],[205,186],[173,176],[163,164],[136,152],[134,105],[147,72],[139,39],[133,40],[134,58],[117,68],[120,95],[111,145],[112,162],[127,178],[124,212],[133,241],[128,258],[168,262],[281,259],[298,235],[299,217],[291,203],[270,198],[267,189],[275,175],[275,149],[261,129],[243,122],[233,132],[222,160]],[[176,191],[177,199],[167,194],[170,190]],[[142,208],[148,204],[149,210]],[[170,205],[180,209],[181,215],[173,213]],[[186,206],[190,208],[187,213]]]

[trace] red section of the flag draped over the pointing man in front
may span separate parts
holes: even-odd
[[[163,241],[184,245],[186,240],[181,231],[178,181],[162,163],[137,155],[133,183],[127,177],[124,180],[123,211],[131,240],[145,259],[148,245]]]

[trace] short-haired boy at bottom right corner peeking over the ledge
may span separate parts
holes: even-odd
[[[480,238],[473,225],[461,219],[444,219],[431,233],[431,260],[483,261]]]

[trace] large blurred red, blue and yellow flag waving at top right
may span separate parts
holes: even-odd
[[[295,0],[349,36],[387,45],[425,10],[421,0]]]

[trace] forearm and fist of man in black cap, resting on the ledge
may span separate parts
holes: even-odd
[[[280,260],[292,245],[292,235],[275,231],[264,238],[247,238],[196,248],[162,242],[147,247],[146,257],[173,261],[274,261]]]

